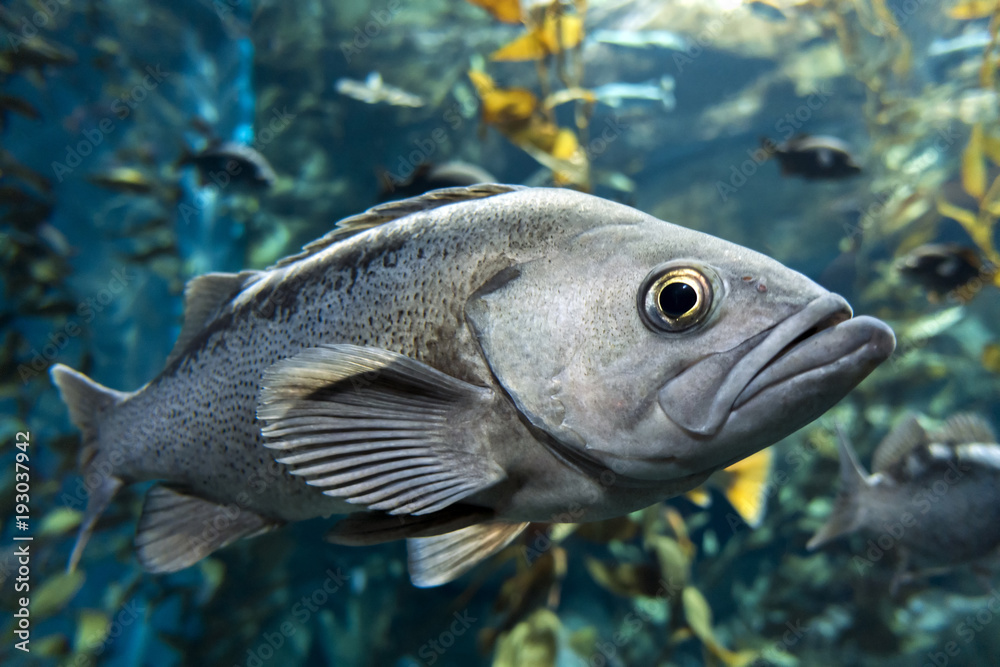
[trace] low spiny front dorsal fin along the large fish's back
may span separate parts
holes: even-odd
[[[294,264],[300,259],[305,259],[306,257],[322,252],[333,244],[343,241],[346,238],[350,238],[355,234],[359,234],[366,229],[384,225],[387,222],[404,218],[412,213],[429,211],[440,206],[446,206],[447,204],[454,204],[461,201],[485,199],[486,197],[493,197],[494,195],[501,195],[521,189],[523,189],[523,187],[519,185],[480,183],[479,185],[472,185],[464,188],[443,188],[441,190],[432,190],[431,192],[424,193],[418,197],[411,197],[409,199],[400,199],[399,201],[379,204],[378,206],[373,206],[364,213],[344,218],[327,234],[304,246],[302,248],[302,252],[280,259],[277,264],[270,268],[280,269],[288,266],[289,264]]]

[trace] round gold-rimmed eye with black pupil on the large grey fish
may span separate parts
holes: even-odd
[[[639,289],[639,315],[656,332],[680,333],[712,310],[712,280],[702,269],[671,264],[654,269]]]

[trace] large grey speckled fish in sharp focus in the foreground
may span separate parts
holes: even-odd
[[[194,279],[185,306],[166,368],[134,393],[52,370],[93,481],[71,567],[118,488],[160,480],[136,537],[151,571],[361,511],[330,538],[410,538],[412,580],[439,584],[527,522],[698,486],[895,344],[756,252],[503,185],[378,206],[266,271]]]

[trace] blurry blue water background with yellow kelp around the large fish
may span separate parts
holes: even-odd
[[[835,425],[865,463],[907,412],[1000,425],[998,23],[990,0],[5,3],[0,662],[1000,665],[995,568],[896,587],[891,535],[805,546],[837,494]],[[860,173],[782,173],[761,138],[798,135]],[[205,167],[230,142],[252,148],[242,178]],[[266,267],[455,161],[775,257],[890,323],[896,352],[774,446],[755,528],[713,490],[708,507],[537,527],[417,589],[403,543],[330,545],[317,520],[151,576],[137,485],[67,573],[86,487],[47,369],[139,388],[188,279]],[[905,275],[928,244],[974,270]]]

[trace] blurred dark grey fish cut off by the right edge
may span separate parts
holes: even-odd
[[[1000,445],[981,417],[955,415],[928,432],[908,415],[879,443],[872,470],[841,436],[840,495],[810,549],[862,531],[875,536],[879,557],[900,548],[903,573],[972,562],[1000,547]]]

